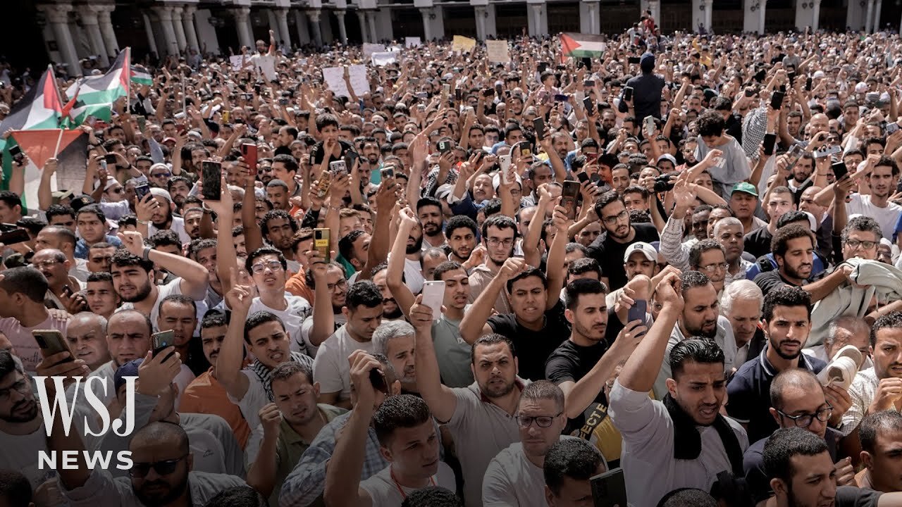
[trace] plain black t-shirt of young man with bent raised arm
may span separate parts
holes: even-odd
[[[548,297],[556,297],[549,294]],[[507,336],[514,346],[520,364],[520,377],[531,381],[545,379],[545,361],[561,342],[570,337],[570,324],[564,317],[564,303],[560,300],[545,312],[545,326],[533,331],[520,326],[512,313],[489,318],[489,326],[499,335]]]

